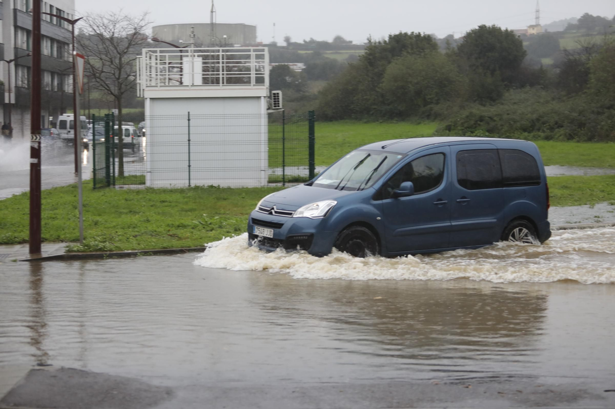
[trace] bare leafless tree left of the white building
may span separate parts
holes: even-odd
[[[92,89],[111,95],[117,106],[117,174],[124,176],[122,101],[137,87],[137,56],[148,44],[145,30],[151,22],[148,13],[135,16],[121,11],[92,13],[81,21],[77,51],[86,57],[85,71]]]

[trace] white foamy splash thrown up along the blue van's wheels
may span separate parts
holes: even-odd
[[[431,255],[388,259],[357,259],[333,251],[314,257],[305,251],[278,249],[265,253],[248,247],[247,235],[209,244],[194,263],[228,270],[267,270],[310,279],[469,278],[492,282],[551,282],[575,280],[584,284],[615,282],[615,228],[553,232],[542,245],[496,243],[477,250],[456,250]]]

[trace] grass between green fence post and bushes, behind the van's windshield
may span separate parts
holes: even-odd
[[[357,147],[387,139],[432,136],[437,123],[356,121],[317,122],[316,166],[328,166]]]

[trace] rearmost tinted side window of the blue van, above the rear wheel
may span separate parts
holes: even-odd
[[[538,163],[532,155],[517,149],[498,149],[498,151],[502,162],[504,187],[540,184]]]

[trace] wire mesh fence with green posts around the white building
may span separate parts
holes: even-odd
[[[143,129],[122,125],[121,155],[113,115],[92,119],[95,188],[254,187],[314,177],[314,111],[149,116]]]

